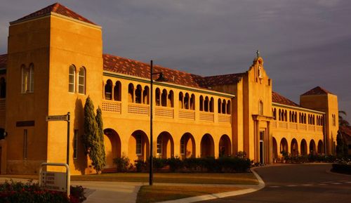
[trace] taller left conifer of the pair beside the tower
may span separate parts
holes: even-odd
[[[84,105],[83,143],[86,149],[86,154],[89,155],[94,169],[97,173],[100,173],[102,171],[103,166],[105,166],[105,156],[102,155],[102,150],[104,150],[103,154],[105,154],[105,149],[103,149],[103,139],[101,143],[98,122],[96,122],[96,119],[97,118],[95,117],[93,101],[88,96]],[[102,119],[100,120],[102,124]]]

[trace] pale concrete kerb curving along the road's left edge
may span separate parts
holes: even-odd
[[[212,195],[201,195],[201,196],[197,196],[197,197],[187,197],[187,198],[183,198],[183,199],[174,199],[174,200],[157,202],[157,203],[191,203],[191,202],[199,202],[199,201],[218,199],[218,198],[223,198],[223,197],[232,197],[232,196],[237,196],[237,195],[248,194],[251,192],[256,192],[258,190],[261,190],[262,188],[265,188],[265,182],[263,182],[262,178],[258,175],[258,173],[256,173],[255,168],[256,167],[251,168],[251,171],[252,171],[253,175],[256,176],[256,178],[258,180],[258,185],[251,185],[251,188],[247,188],[244,190],[232,191],[232,192],[221,192],[221,193],[216,193],[216,194],[212,194]],[[231,186],[242,187],[243,185],[231,185]],[[249,187],[249,186],[245,185],[245,187]]]

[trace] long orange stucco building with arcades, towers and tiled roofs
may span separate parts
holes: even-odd
[[[300,105],[272,91],[263,58],[249,70],[211,77],[154,66],[154,156],[219,157],[244,151],[255,162],[292,155],[333,153],[337,96],[321,87]],[[72,173],[91,173],[80,138],[84,103],[102,108],[107,152],[113,159],[150,155],[150,65],[102,53],[102,28],[53,4],[10,22],[8,53],[0,55],[1,173],[37,173],[42,162],[66,162],[71,114]],[[157,75],[154,75],[157,79]],[[1,133],[2,134],[2,133]]]

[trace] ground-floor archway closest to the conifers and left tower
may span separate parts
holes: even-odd
[[[121,139],[114,129],[104,130],[104,145],[106,153],[105,169],[114,168],[113,159],[121,157]]]

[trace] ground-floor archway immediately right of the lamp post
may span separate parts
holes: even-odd
[[[162,132],[157,136],[157,156],[167,159],[174,157],[174,143],[170,133]]]

